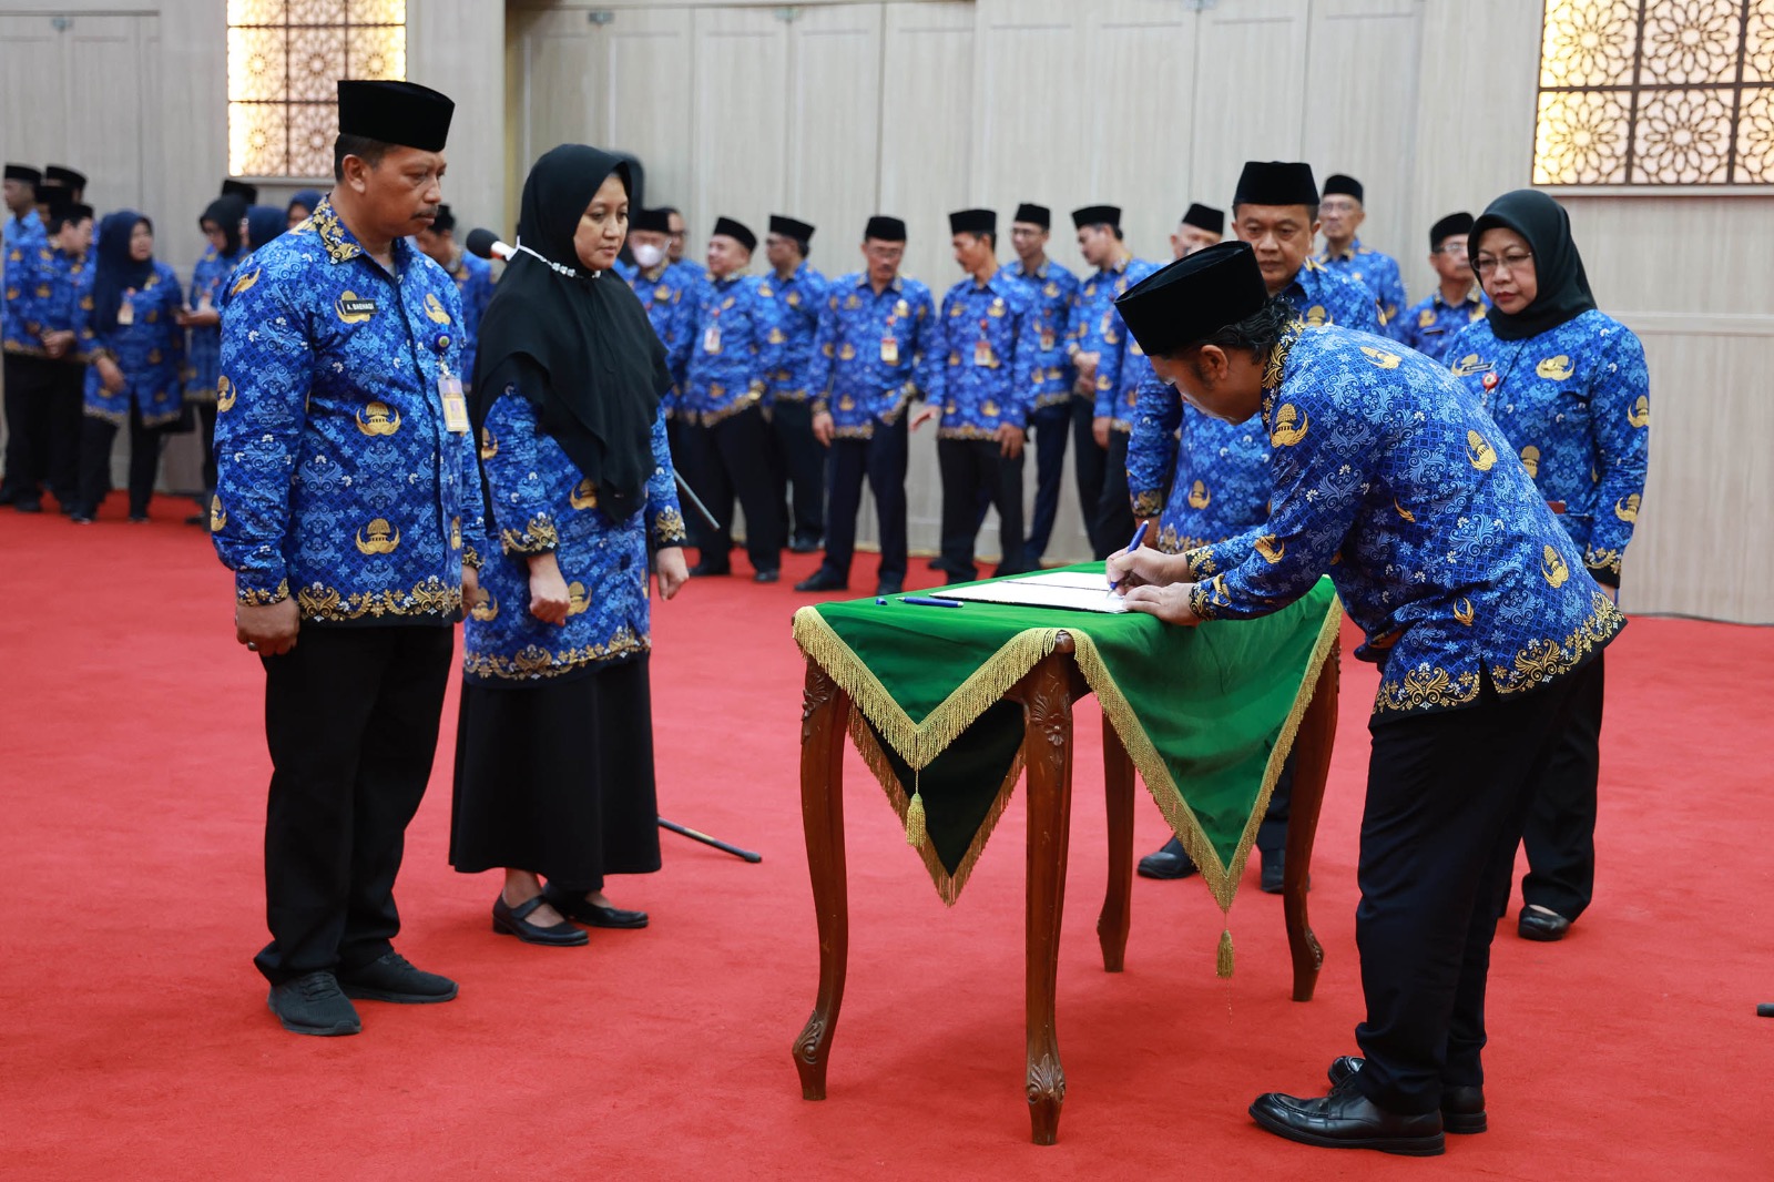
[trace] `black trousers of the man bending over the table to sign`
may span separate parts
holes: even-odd
[[[1591,660],[1503,697],[1485,676],[1460,710],[1370,724],[1355,944],[1368,1019],[1357,1086],[1432,1113],[1444,1086],[1483,1084],[1485,983],[1515,847]]]

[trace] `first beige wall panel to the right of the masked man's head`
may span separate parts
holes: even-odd
[[[763,229],[761,211],[782,193],[788,154],[788,23],[768,9],[697,9],[690,124],[695,144],[690,236],[701,257],[715,217]],[[663,190],[660,190],[663,192]]]

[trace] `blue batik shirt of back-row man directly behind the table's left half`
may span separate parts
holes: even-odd
[[[946,353],[940,438],[997,438],[1025,429],[1034,410],[1034,355],[1041,343],[1029,291],[1004,268],[972,275],[942,296],[938,351]]]

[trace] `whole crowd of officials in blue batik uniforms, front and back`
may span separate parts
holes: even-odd
[[[90,522],[128,426],[144,520],[163,435],[206,437],[199,520],[266,669],[257,965],[286,1028],[357,1033],[349,999],[456,996],[390,942],[449,625],[467,628],[451,861],[506,871],[493,928],[573,946],[578,925],[646,926],[603,880],[658,868],[649,571],[667,600],[729,575],[738,508],[756,580],[823,548],[797,589],[844,589],[866,479],[875,589],[898,593],[908,435],[931,422],[951,582],[981,573],[988,509],[997,573],[1041,563],[1068,445],[1130,607],[1192,625],[1338,582],[1384,669],[1368,1058],[1336,1061],[1330,1097],[1252,1115],[1407,1154],[1483,1129],[1488,928],[1517,841],[1520,935],[1559,939],[1593,889],[1602,648],[1648,445],[1643,350],[1597,309],[1556,202],[1439,220],[1437,289],[1407,305],[1359,238],[1359,181],[1251,162],[1229,217],[1190,206],[1162,266],[1132,256],[1116,206],[1071,211],[1080,275],[1048,256],[1047,208],[1017,208],[1008,264],[997,213],[956,211],[963,279],[938,302],[899,270],[899,218],[871,217],[860,266],[827,277],[812,225],[772,217],[754,268],[757,234],[720,217],[699,266],[676,211],[630,208],[619,158],[561,146],[529,172],[495,284],[442,204],[449,99],[341,82],[339,110],[334,190],[277,209],[225,183],[190,284],[144,215],[94,232],[76,172],[5,167],[5,499],[41,511],[46,488]],[[1135,522],[1155,527],[1128,554]],[[1258,834],[1265,889],[1286,784]],[[1141,870],[1194,871],[1176,843]]]

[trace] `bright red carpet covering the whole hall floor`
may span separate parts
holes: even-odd
[[[0,1177],[1774,1177],[1774,1020],[1754,1017],[1774,1001],[1774,630],[1637,619],[1613,648],[1597,903],[1563,944],[1517,939],[1513,916],[1503,928],[1492,1132],[1449,1138],[1435,1162],[1304,1148],[1245,1116],[1258,1091],[1318,1090],[1355,1051],[1371,669],[1345,662],[1309,1005],[1286,997],[1279,900],[1254,889],[1254,859],[1231,981],[1213,976],[1219,914],[1192,882],[1137,880],[1126,973],[1102,971],[1102,768],[1080,756],[1059,974],[1070,1091],[1059,1145],[1036,1148],[1020,802],[949,910],[855,758],[850,990],[830,1099],[800,1099],[789,1042],[818,965],[788,632],[804,596],[742,579],[656,614],[660,808],[763,864],[663,834],[665,871],[610,887],[653,912],[649,930],[594,932],[589,950],[495,937],[495,877],[445,864],[452,696],[399,948],[456,976],[461,999],[364,1003],[357,1038],[286,1035],[250,964],[263,674],[234,644],[229,575],[176,524],[186,511],[161,500],[149,525],[87,529],[0,511]],[[859,559],[866,593],[873,556]],[[1086,703],[1086,753],[1096,735]],[[1162,838],[1141,804],[1139,850]]]

